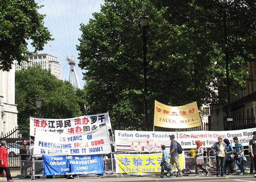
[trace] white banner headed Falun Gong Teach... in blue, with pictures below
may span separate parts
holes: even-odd
[[[115,130],[115,145],[117,152],[162,152],[161,146],[170,148],[170,131],[123,131]],[[168,150],[168,149],[167,149]]]

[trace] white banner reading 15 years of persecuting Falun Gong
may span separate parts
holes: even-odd
[[[81,133],[37,130],[34,155],[93,155],[111,152],[107,126]]]

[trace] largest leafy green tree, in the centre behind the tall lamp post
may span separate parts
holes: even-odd
[[[106,0],[101,12],[94,13],[95,19],[81,25],[78,46],[79,66],[87,70],[84,89],[91,110],[109,111],[117,126],[116,96],[108,83],[118,74],[121,127],[144,129],[142,30],[138,27],[142,6],[149,17],[149,128],[153,129],[155,100],[171,106],[225,100],[222,92],[215,92],[225,90],[225,67],[221,47],[207,39],[212,32],[199,34],[203,25],[171,24],[163,16],[168,9],[157,10],[149,1]],[[234,80],[248,79],[240,68],[235,71]]]

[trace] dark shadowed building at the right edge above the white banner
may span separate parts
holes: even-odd
[[[256,79],[256,62],[249,63],[248,71]],[[227,106],[210,104],[209,130],[240,130],[256,127],[256,82],[246,81],[245,90],[236,90],[231,96],[231,120],[227,121]]]

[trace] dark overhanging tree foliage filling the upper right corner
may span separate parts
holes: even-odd
[[[224,58],[224,6],[219,0],[150,0],[158,10],[165,9],[163,17],[169,23],[191,30],[189,36],[200,52],[213,54],[217,66],[225,66]],[[255,61],[256,56],[256,2],[251,0],[234,0],[226,6],[229,80],[231,92],[245,89],[245,80],[253,81],[248,72],[248,62]],[[245,21],[246,19],[246,21]],[[199,39],[200,41],[194,41]],[[203,39],[203,41],[202,41]],[[213,47],[213,51],[211,47]],[[219,53],[216,54],[216,49]],[[210,52],[209,52],[210,51]],[[219,102],[225,100],[226,77],[217,72],[218,82],[213,82],[219,91]]]

